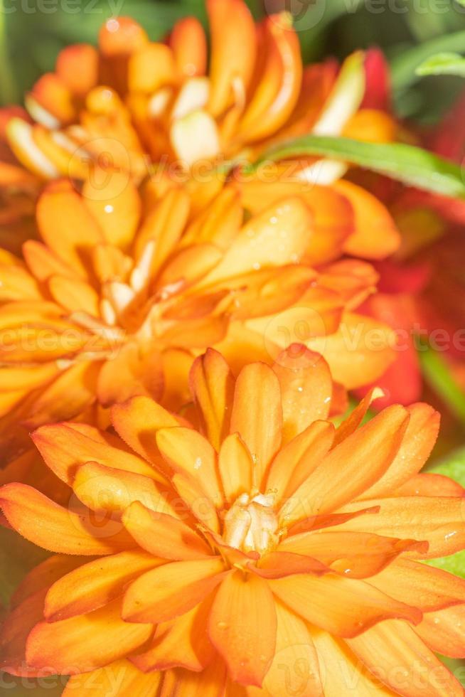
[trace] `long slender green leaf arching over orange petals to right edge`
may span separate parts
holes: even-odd
[[[299,155],[316,155],[348,161],[371,169],[408,186],[444,196],[465,199],[460,167],[437,155],[402,143],[367,143],[349,138],[308,135],[280,143],[264,152],[255,164]]]

